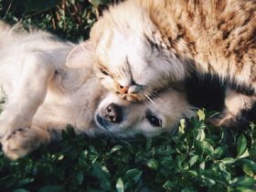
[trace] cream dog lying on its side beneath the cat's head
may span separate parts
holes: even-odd
[[[0,137],[9,158],[57,139],[68,123],[90,135],[153,136],[173,132],[181,118],[194,114],[185,93],[174,89],[148,103],[121,100],[94,75],[89,41],[68,59],[75,65],[82,58],[83,69],[66,67],[76,46],[43,31],[0,23],[0,83],[6,96]]]

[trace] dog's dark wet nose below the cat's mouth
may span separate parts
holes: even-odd
[[[123,118],[121,107],[111,103],[105,109],[104,118],[110,123],[121,123]]]

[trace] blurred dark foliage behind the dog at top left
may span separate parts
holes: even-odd
[[[89,37],[91,25],[115,0],[0,0],[0,18],[22,22],[72,41]]]

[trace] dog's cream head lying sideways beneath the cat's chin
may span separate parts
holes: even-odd
[[[133,103],[121,100],[109,93],[99,104],[94,121],[105,133],[129,137],[142,133],[147,137],[176,130],[179,120],[190,117],[190,110],[184,93],[165,91],[155,100]]]

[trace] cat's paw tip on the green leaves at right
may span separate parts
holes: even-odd
[[[236,118],[229,113],[220,113],[207,119],[207,123],[215,127],[234,127]]]

